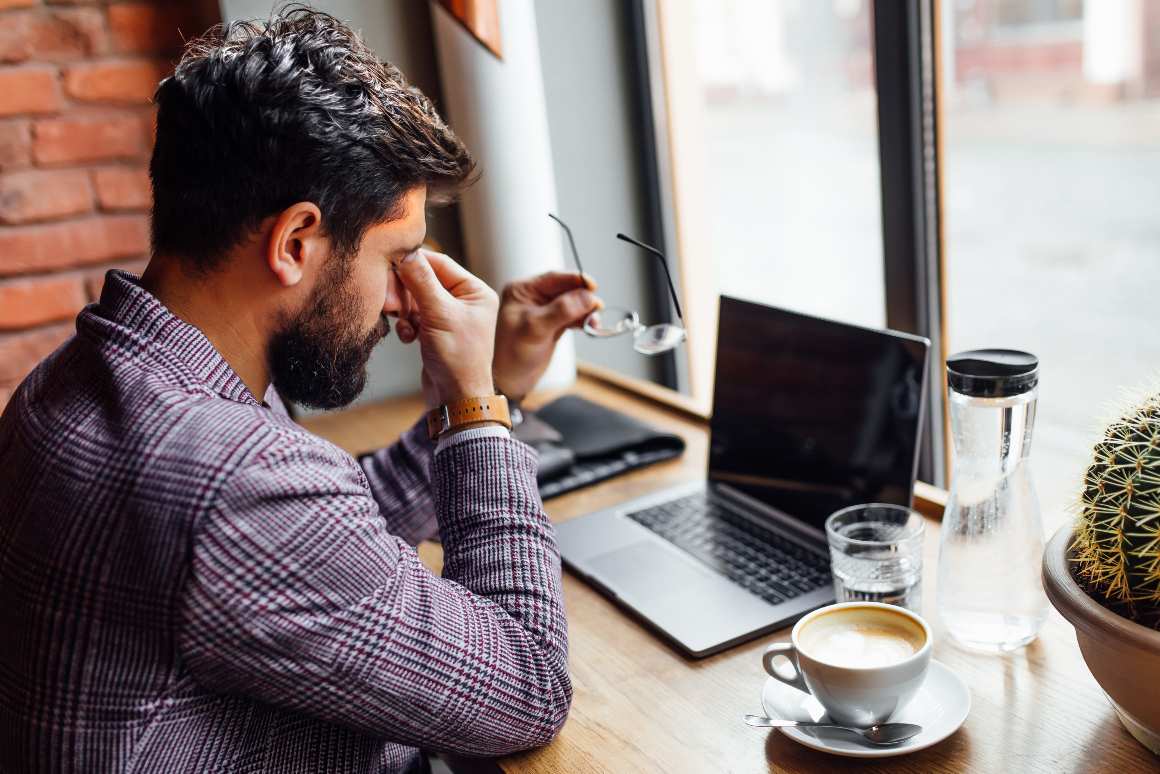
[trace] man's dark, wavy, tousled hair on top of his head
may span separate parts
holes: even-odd
[[[262,218],[314,202],[338,255],[428,186],[448,201],[474,162],[430,101],[341,21],[299,5],[218,26],[161,81],[153,252],[212,269]]]

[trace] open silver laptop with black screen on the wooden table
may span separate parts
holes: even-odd
[[[909,505],[927,339],[723,296],[709,471],[557,527],[565,565],[703,657],[834,601],[826,518]]]

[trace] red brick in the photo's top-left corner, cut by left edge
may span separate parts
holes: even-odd
[[[0,62],[55,62],[103,53],[104,19],[96,8],[7,14],[0,24]]]

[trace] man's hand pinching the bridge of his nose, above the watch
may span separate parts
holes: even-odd
[[[495,291],[447,255],[428,249],[412,253],[397,270],[418,308],[406,326],[400,320],[398,327],[418,332],[428,406],[493,395]]]

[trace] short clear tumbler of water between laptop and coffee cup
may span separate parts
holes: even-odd
[[[922,607],[922,516],[900,505],[854,505],[826,519],[839,602]]]

